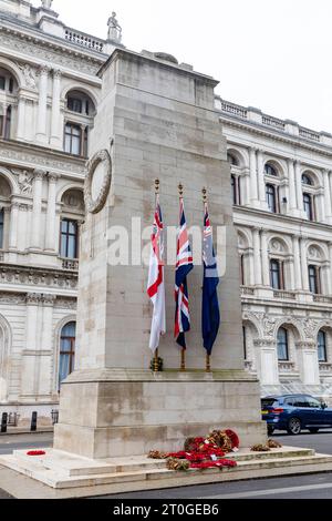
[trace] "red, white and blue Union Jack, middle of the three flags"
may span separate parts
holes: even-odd
[[[180,200],[180,219],[177,238],[177,259],[175,274],[175,339],[184,349],[186,346],[185,334],[190,330],[190,313],[188,299],[187,276],[194,269],[193,254],[188,237],[185,206]]]

